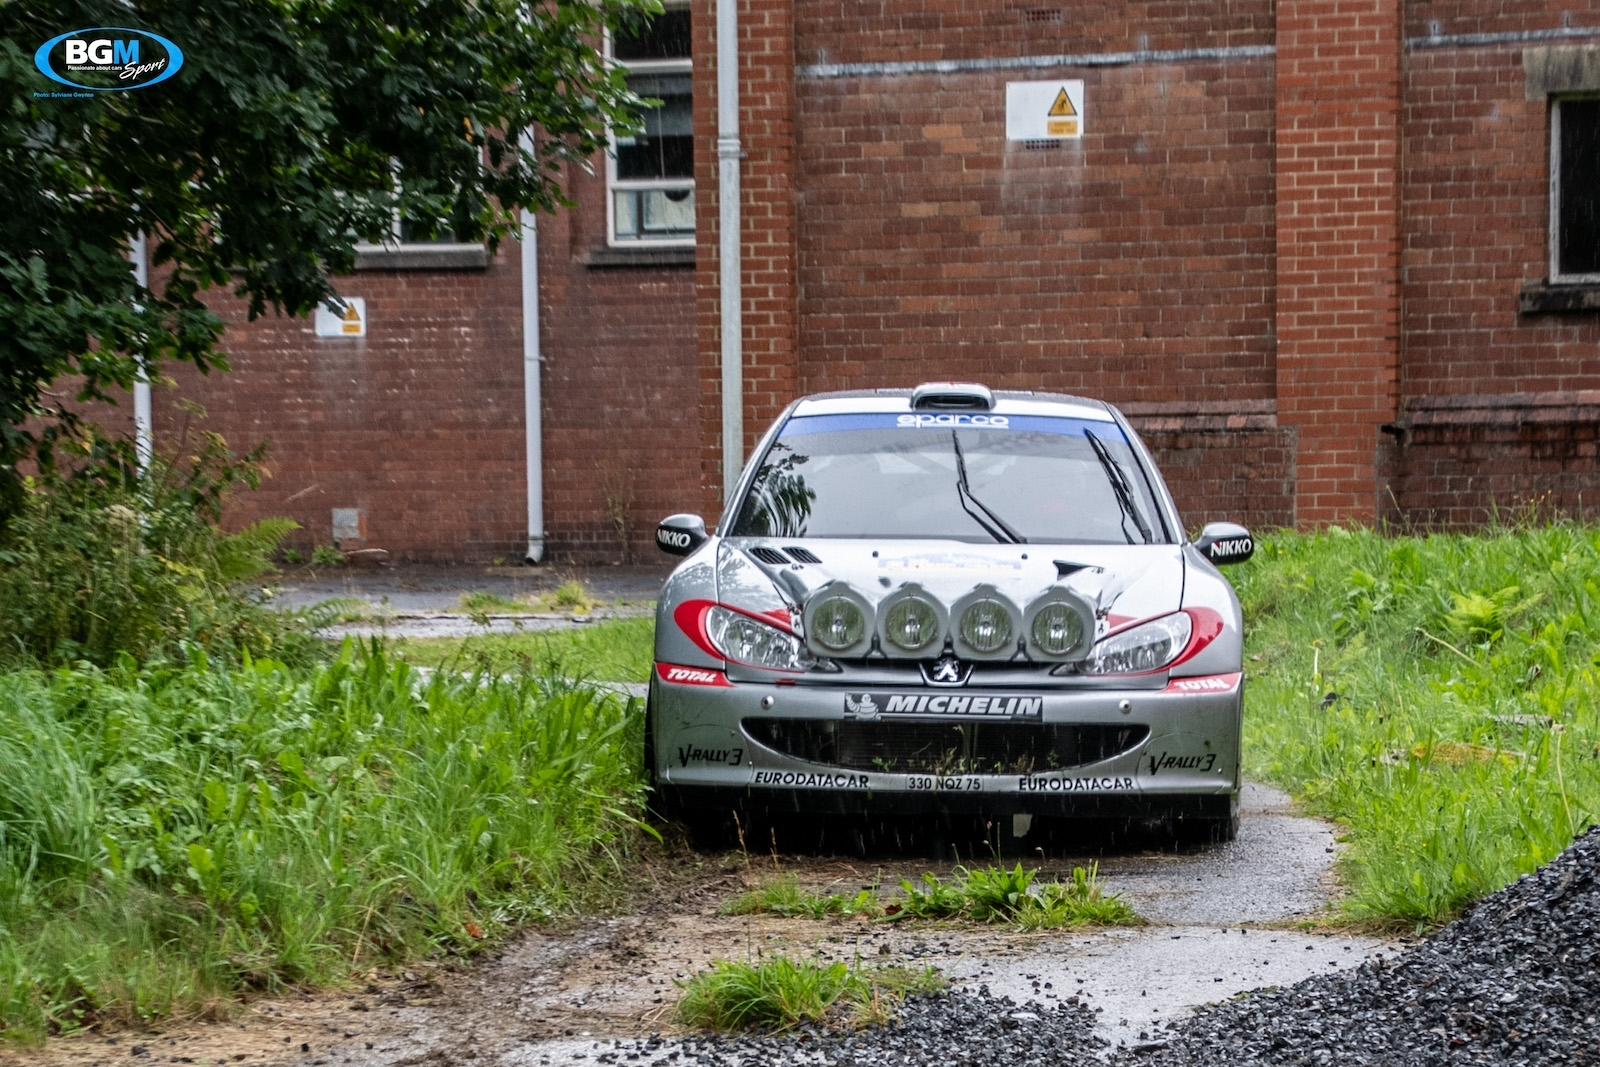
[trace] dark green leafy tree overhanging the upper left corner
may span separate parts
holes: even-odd
[[[634,125],[595,50],[656,0],[13,0],[0,3],[0,522],[16,464],[72,426],[48,386],[109,400],[160,360],[226,366],[202,294],[254,318],[334,293],[394,213],[491,246],[515,210],[566,203],[558,173]],[[166,82],[90,99],[34,67],[78,27],[176,42]],[[538,130],[536,146],[518,144]],[[531,150],[530,150],[531,147]],[[149,234],[155,291],[126,238]],[[32,429],[30,429],[32,427]],[[38,427],[46,427],[38,432]]]

